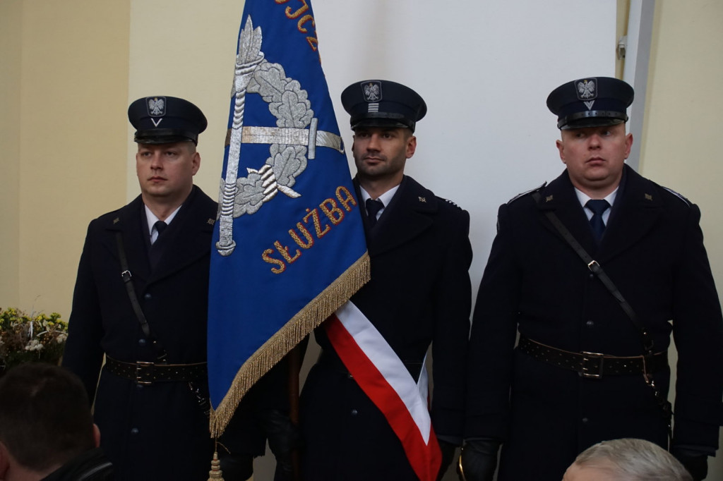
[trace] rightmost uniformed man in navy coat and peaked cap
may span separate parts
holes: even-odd
[[[500,443],[500,481],[559,481],[608,439],[667,449],[671,332],[672,453],[706,476],[722,419],[721,308],[698,207],[625,165],[632,102],[607,77],[547,99],[566,169],[500,207],[472,322],[467,480],[492,480]]]

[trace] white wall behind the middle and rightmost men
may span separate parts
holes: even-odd
[[[476,292],[497,207],[564,167],[547,95],[569,80],[615,75],[615,2],[315,0],[313,7],[348,146],[339,100],[348,84],[394,80],[427,102],[407,173],[470,212]]]

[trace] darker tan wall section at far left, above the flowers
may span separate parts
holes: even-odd
[[[124,201],[128,11],[0,2],[0,306],[67,319],[85,226]]]

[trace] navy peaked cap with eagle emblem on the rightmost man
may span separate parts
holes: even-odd
[[[589,77],[560,85],[547,97],[547,108],[557,116],[557,128],[580,129],[628,121],[625,110],[633,103],[633,87],[612,77]]]

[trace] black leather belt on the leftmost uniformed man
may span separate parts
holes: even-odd
[[[124,363],[107,356],[106,365],[103,369],[116,376],[143,385],[163,381],[194,381],[208,375],[206,363],[155,364],[144,361]]]

